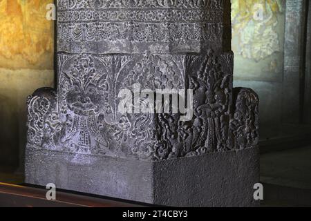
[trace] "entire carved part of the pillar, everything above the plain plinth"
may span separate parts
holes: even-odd
[[[223,1],[58,3],[57,89],[29,97],[27,148],[161,161],[257,145],[258,96],[233,88],[221,49]],[[120,111],[122,90],[138,112]],[[157,90],[191,90],[193,117],[153,106]]]

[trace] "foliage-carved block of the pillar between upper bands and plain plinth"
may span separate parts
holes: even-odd
[[[232,90],[232,55],[59,54],[59,88],[28,99],[28,146],[72,153],[167,160],[256,146],[258,97]],[[194,117],[117,112],[117,93],[194,90]],[[144,102],[140,99],[139,105]],[[129,145],[130,144],[130,145]]]

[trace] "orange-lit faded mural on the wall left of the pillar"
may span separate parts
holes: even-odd
[[[0,0],[0,67],[53,67],[53,0]],[[9,61],[9,62],[8,62]]]

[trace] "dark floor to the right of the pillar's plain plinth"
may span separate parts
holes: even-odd
[[[311,146],[261,155],[263,206],[311,206]]]

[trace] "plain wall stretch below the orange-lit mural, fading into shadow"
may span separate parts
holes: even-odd
[[[37,88],[53,84],[53,70],[0,68],[0,171],[9,167],[23,173],[27,97]]]

